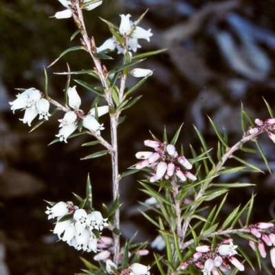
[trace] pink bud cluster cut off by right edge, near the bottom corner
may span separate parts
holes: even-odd
[[[256,223],[256,225],[250,225],[249,229],[257,239],[257,242],[248,241],[250,247],[256,251],[255,245],[257,245],[261,256],[265,258],[267,255],[265,245],[270,246],[270,258],[272,266],[275,268],[275,225],[273,223]]]

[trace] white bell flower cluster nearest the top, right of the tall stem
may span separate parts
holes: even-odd
[[[136,21],[133,22],[130,20],[131,14],[120,14],[120,17],[121,23],[119,32],[120,35],[123,36],[127,50],[136,52],[137,48],[142,47],[138,43],[138,39],[146,39],[146,41],[150,42],[150,37],[153,35],[151,33],[151,29],[144,30],[143,28],[136,26],[133,32],[131,32],[132,26],[136,23]],[[107,49],[113,51],[115,48],[118,50],[118,54],[125,54],[126,52],[124,45],[121,45],[115,36],[113,36],[110,39],[107,39],[107,41],[105,41],[100,47],[98,47],[97,52],[102,52],[103,50]]]

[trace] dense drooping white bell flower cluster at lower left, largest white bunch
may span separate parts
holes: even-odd
[[[47,207],[45,213],[49,215],[48,219],[57,219],[54,234],[57,234],[59,239],[73,246],[76,250],[98,252],[98,239],[92,230],[98,230],[101,233],[103,228],[108,226],[107,219],[103,219],[100,212],[92,211],[87,214],[84,209],[78,209],[72,202],[60,201],[52,208]],[[73,213],[72,219],[59,221],[65,215]]]

